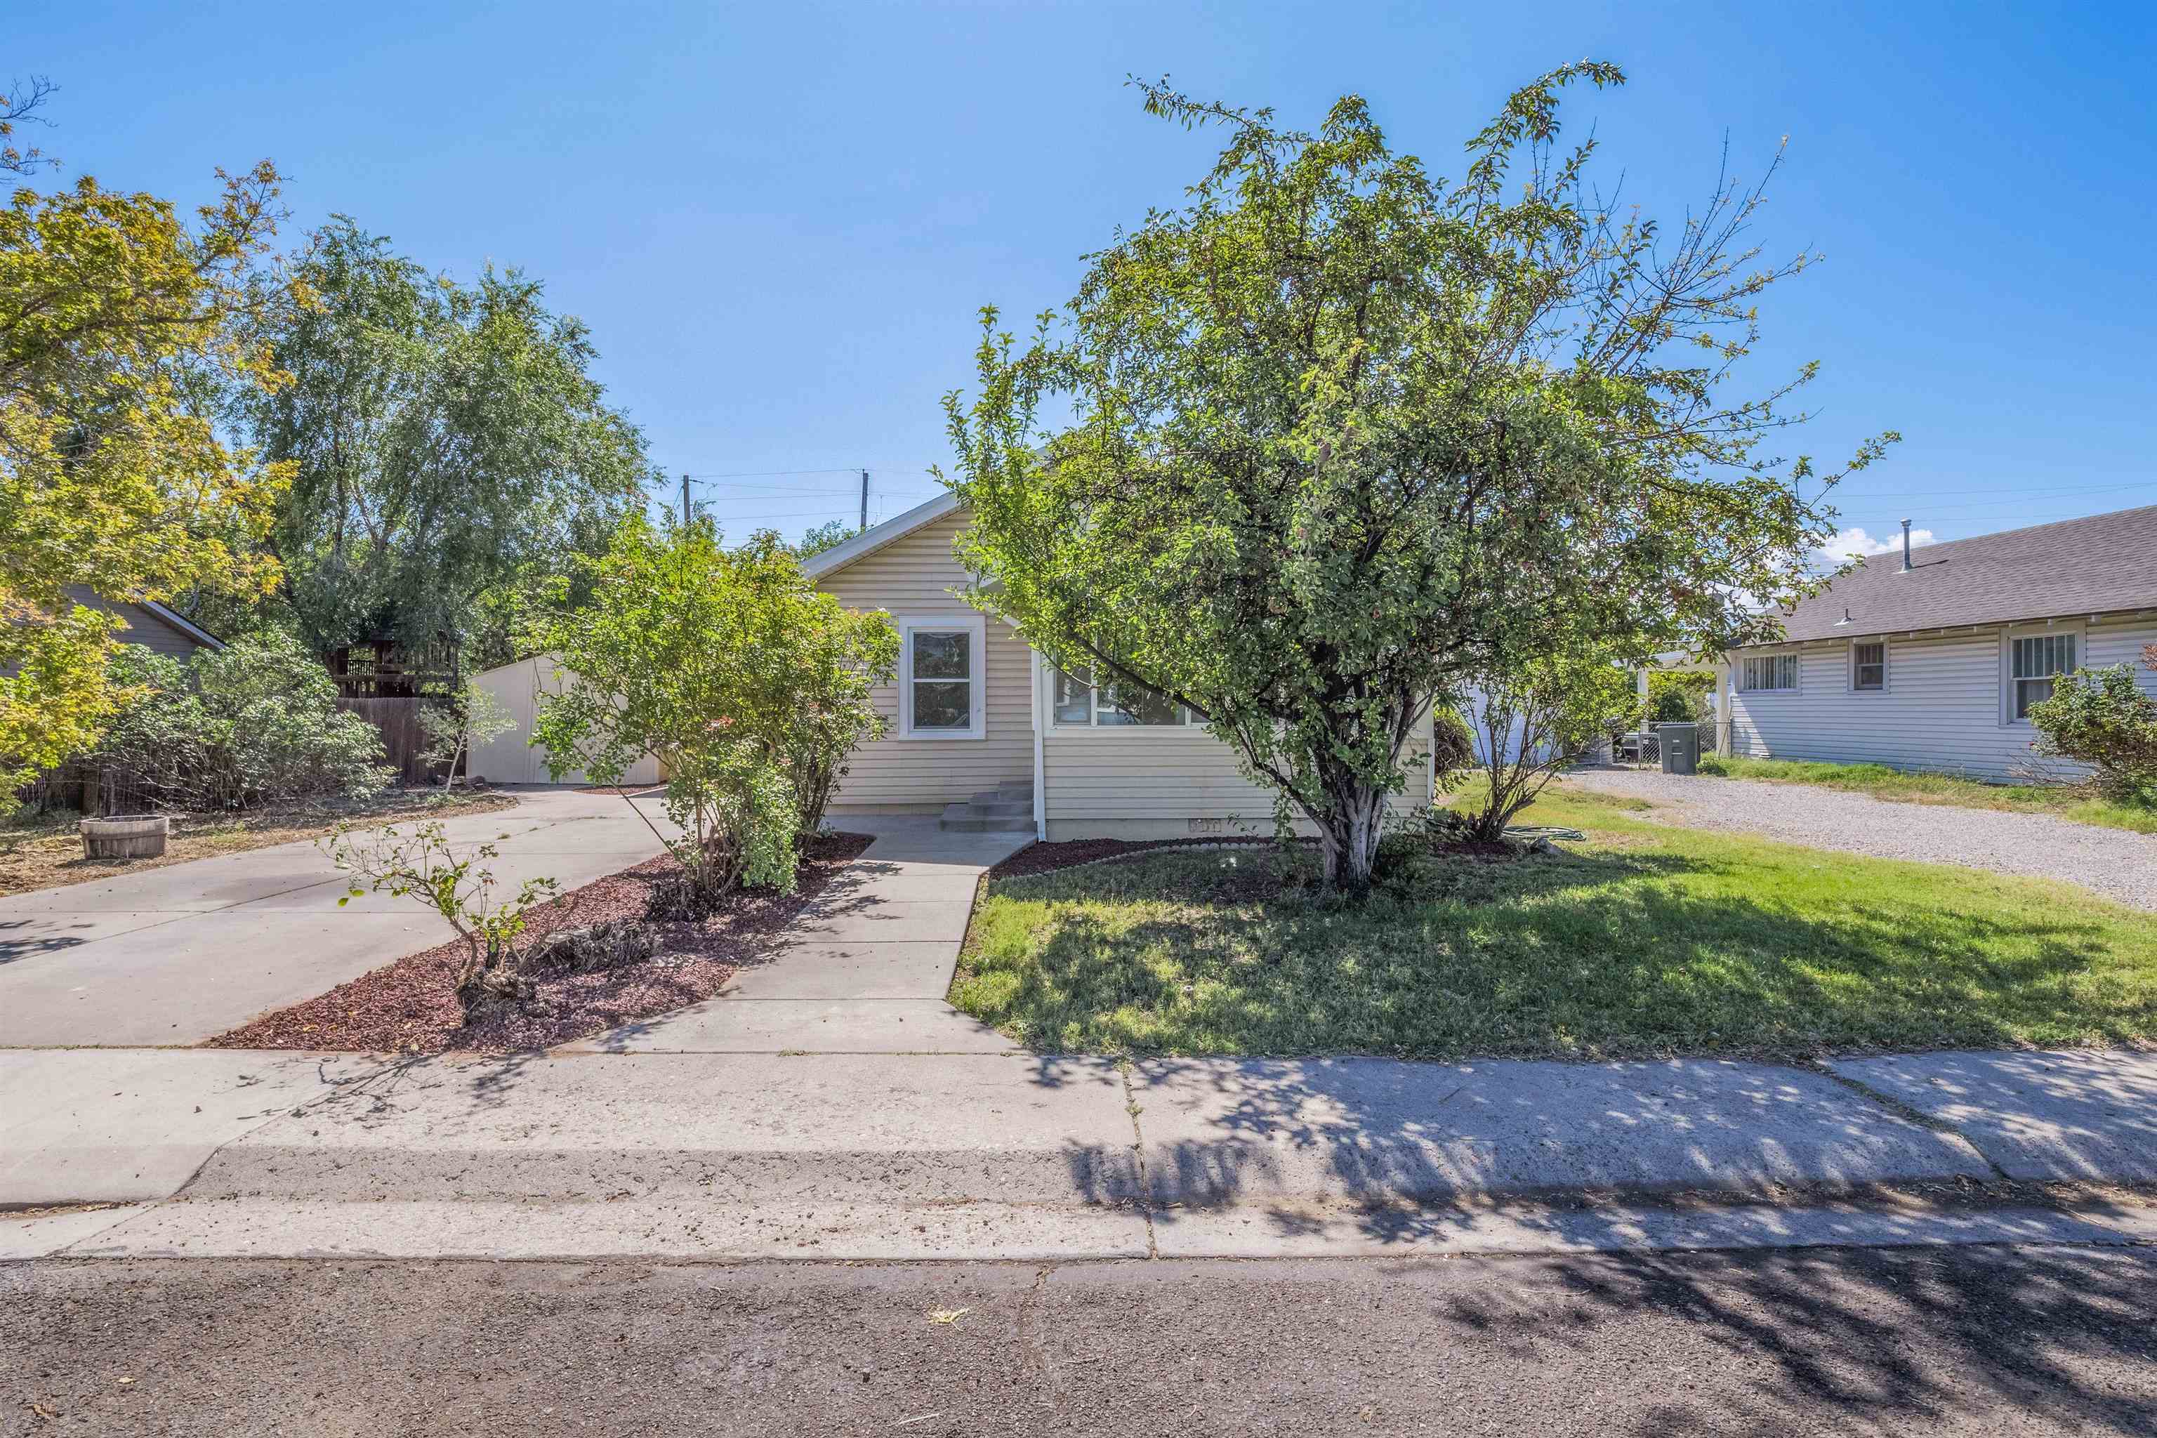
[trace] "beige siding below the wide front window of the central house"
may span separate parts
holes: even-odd
[[[1393,798],[1396,811],[1430,802],[1428,755],[1426,718],[1402,765],[1409,785]],[[1050,729],[1042,772],[1053,843],[1273,832],[1273,789],[1249,783],[1236,752],[1204,731]]]

